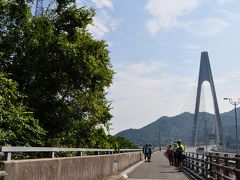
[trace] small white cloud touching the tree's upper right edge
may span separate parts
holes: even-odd
[[[117,22],[108,13],[102,11],[98,16],[94,17],[94,25],[88,26],[88,30],[95,38],[100,39],[111,31],[114,31],[116,27]]]

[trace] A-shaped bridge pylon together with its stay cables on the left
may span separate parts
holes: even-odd
[[[209,118],[205,106],[204,86],[208,82],[211,90],[214,115]],[[194,88],[196,89],[196,87]],[[213,81],[213,75],[207,52],[201,53],[197,92],[192,91],[184,104],[182,114],[173,127],[172,141],[182,139],[188,145],[216,144],[224,146],[223,128],[218,107],[217,95]],[[189,112],[189,113],[188,113]],[[190,113],[193,113],[191,115]],[[186,123],[193,124],[192,130],[186,129]],[[186,131],[192,131],[192,136],[187,137]]]

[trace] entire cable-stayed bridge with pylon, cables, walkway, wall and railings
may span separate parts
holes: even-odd
[[[210,85],[214,109],[211,116],[206,110],[204,82]],[[201,53],[196,87],[169,134],[168,143],[181,139],[186,145],[183,172],[169,165],[165,150],[159,151],[159,148],[153,149],[152,162],[145,163],[141,148],[1,147],[0,180],[240,179],[240,156],[225,152],[223,126],[207,52]],[[191,136],[186,133],[189,131]],[[199,145],[208,145],[215,151],[197,154],[195,148]],[[76,152],[76,156],[56,157],[59,152]],[[12,153],[35,153],[36,156],[35,159],[16,160]],[[36,158],[39,153],[41,159]]]

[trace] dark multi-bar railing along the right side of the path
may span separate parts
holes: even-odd
[[[185,153],[183,168],[195,179],[240,179],[240,156],[229,154]]]

